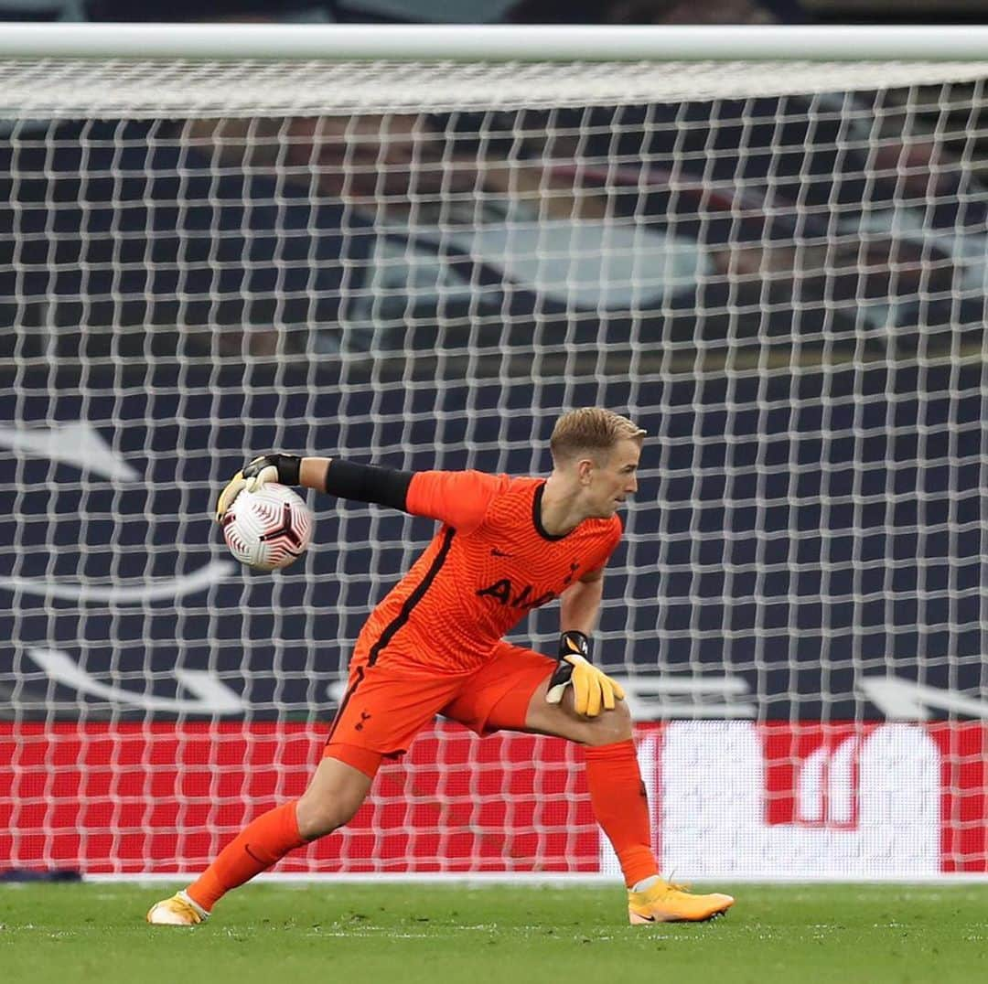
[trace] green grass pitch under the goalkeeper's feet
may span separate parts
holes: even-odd
[[[730,886],[719,886],[731,890]],[[619,886],[249,885],[193,930],[174,889],[0,885],[11,984],[735,984],[988,979],[988,885],[738,885],[704,925],[629,927]]]

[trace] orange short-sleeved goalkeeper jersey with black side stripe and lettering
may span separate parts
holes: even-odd
[[[355,659],[398,658],[432,673],[476,669],[532,609],[603,567],[620,539],[617,516],[542,529],[542,478],[422,471],[406,507],[443,525],[374,609]]]

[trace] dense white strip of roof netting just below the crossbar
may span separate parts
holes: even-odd
[[[140,61],[0,64],[0,118],[551,109],[934,85],[976,61]]]

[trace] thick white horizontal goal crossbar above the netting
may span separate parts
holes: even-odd
[[[983,61],[988,27],[8,24],[0,57]]]

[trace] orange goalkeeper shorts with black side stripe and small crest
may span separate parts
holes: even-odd
[[[509,642],[467,673],[430,675],[393,657],[372,666],[355,661],[323,755],[372,776],[382,758],[402,755],[437,714],[478,735],[520,730],[533,694],[556,666],[556,660]]]

